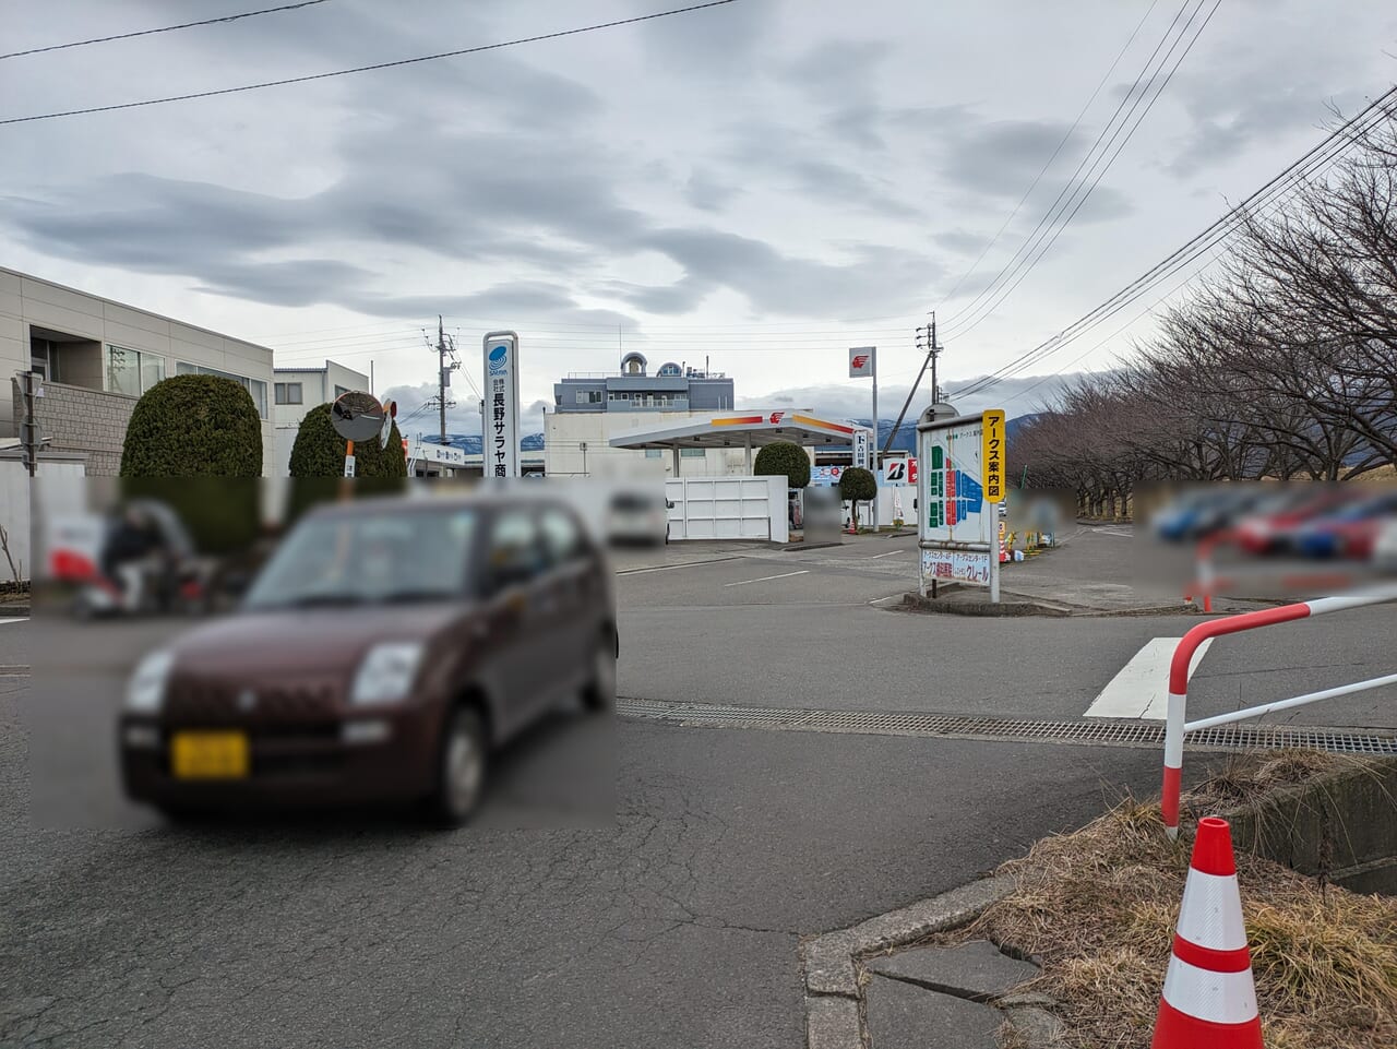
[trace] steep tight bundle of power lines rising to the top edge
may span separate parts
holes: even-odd
[[[1183,8],[1180,8],[1179,14],[1182,14],[1183,10],[1187,8],[1190,1],[1192,0],[1185,0],[1185,6]],[[1119,126],[1116,126],[1115,131],[1112,131],[1111,138],[1106,140],[1101,154],[1091,162],[1091,166],[1087,169],[1087,173],[1083,177],[1083,180],[1077,182],[1077,175],[1076,173],[1073,175],[1067,186],[1063,187],[1063,193],[1058,194],[1058,200],[1062,201],[1062,207],[1059,208],[1058,203],[1055,201],[1053,208],[1049,210],[1048,215],[1045,215],[1044,219],[1038,223],[1030,239],[1024,242],[1024,244],[1020,247],[1018,251],[1014,253],[1014,258],[1010,260],[1009,265],[1006,265],[1004,270],[1000,272],[1000,275],[996,278],[996,284],[999,281],[1006,281],[1006,282],[1013,281],[1013,282],[1002,286],[997,293],[992,292],[993,285],[990,286],[990,289],[986,289],[986,292],[992,292],[990,300],[983,303],[978,309],[972,306],[970,310],[964,310],[960,314],[957,314],[957,320],[950,321],[949,327],[951,328],[951,331],[947,334],[957,337],[965,335],[968,331],[978,327],[986,317],[989,317],[989,314],[993,313],[1004,302],[1004,299],[1007,299],[1014,292],[1014,289],[1018,288],[1020,284],[1023,284],[1024,278],[1034,270],[1035,265],[1038,265],[1042,257],[1058,242],[1058,237],[1062,236],[1062,232],[1069,225],[1071,225],[1073,218],[1076,218],[1077,212],[1083,208],[1083,205],[1095,191],[1097,186],[1101,184],[1101,180],[1106,176],[1106,172],[1111,169],[1111,165],[1115,163],[1116,158],[1134,137],[1134,133],[1139,130],[1140,124],[1150,115],[1150,110],[1154,109],[1155,102],[1160,101],[1160,96],[1164,94],[1164,89],[1169,85],[1169,80],[1172,80],[1175,71],[1189,56],[1189,52],[1193,50],[1193,45],[1197,43],[1199,36],[1208,27],[1208,22],[1217,13],[1221,0],[1214,0],[1213,10],[1208,11],[1207,18],[1204,18],[1197,32],[1194,32],[1193,39],[1189,41],[1187,46],[1183,49],[1183,53],[1180,53],[1178,60],[1175,60],[1173,66],[1169,68],[1168,74],[1161,82],[1158,91],[1155,91],[1154,96],[1150,98],[1148,103],[1146,103],[1144,110],[1140,113],[1140,116],[1134,117],[1136,110],[1140,108],[1140,103],[1144,102],[1146,96],[1150,94],[1153,81],[1158,78],[1160,71],[1165,67],[1165,64],[1168,64],[1169,59],[1173,56],[1175,49],[1179,46],[1179,43],[1183,42],[1185,35],[1187,35],[1189,32],[1189,27],[1193,24],[1193,20],[1199,15],[1206,3],[1207,0],[1199,0],[1197,7],[1194,7],[1193,13],[1189,15],[1187,22],[1185,22],[1183,29],[1179,32],[1178,38],[1175,38],[1173,43],[1169,46],[1169,50],[1165,53],[1164,60],[1160,63],[1160,67],[1150,75],[1150,81],[1146,82],[1144,89],[1141,89],[1139,95],[1134,95],[1134,101],[1130,103],[1130,109],[1126,112],[1125,119],[1120,122]],[[1178,18],[1175,21],[1178,21]],[[1171,31],[1172,28],[1173,27],[1171,24]],[[1162,43],[1164,41],[1161,41],[1161,46]],[[1155,50],[1158,52],[1158,49]],[[1148,64],[1146,70],[1141,70],[1140,77],[1136,80],[1136,84],[1139,84],[1140,80],[1144,78],[1147,70]],[[1134,94],[1134,87],[1132,87],[1130,89],[1130,95],[1133,94]],[[1127,95],[1127,98],[1130,95]],[[1118,113],[1119,112],[1120,110],[1118,109]],[[1130,124],[1132,117],[1134,117],[1133,124]],[[1115,117],[1112,117],[1112,123],[1113,122]],[[1127,124],[1130,124],[1130,130],[1126,133],[1126,137],[1120,140],[1120,144],[1116,145],[1116,138],[1119,138],[1120,133],[1126,129]],[[1105,131],[1102,134],[1105,134]],[[1098,144],[1099,141],[1101,140],[1098,140]],[[1115,147],[1113,152],[1112,147]],[[1092,149],[1095,149],[1095,147]],[[1085,163],[1085,159],[1088,158],[1084,158],[1083,163]],[[1097,170],[1098,166],[1099,170]],[[1077,172],[1078,173],[1081,172],[1081,166],[1077,168]],[[1087,183],[1087,179],[1091,179],[1090,184]],[[1063,194],[1067,193],[1069,189],[1071,189],[1071,193],[1067,194],[1066,200],[1063,200]],[[1085,191],[1083,191],[1083,189],[1085,189]],[[1067,208],[1071,208],[1071,211],[1067,212]],[[1067,212],[1066,217],[1063,217],[1065,212]],[[1044,242],[1044,237],[1048,237],[1046,242]],[[968,323],[960,321],[960,318],[965,317],[967,313],[978,313],[979,316],[972,317]]]

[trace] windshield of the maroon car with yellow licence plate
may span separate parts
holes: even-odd
[[[243,608],[457,598],[468,581],[476,518],[471,508],[307,518],[258,574]]]

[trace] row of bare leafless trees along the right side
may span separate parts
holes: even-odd
[[[1397,108],[1327,175],[1245,211],[1214,275],[1127,362],[1071,383],[1010,476],[1116,515],[1155,482],[1347,481],[1397,462]]]

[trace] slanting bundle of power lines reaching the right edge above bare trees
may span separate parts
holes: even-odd
[[[1106,299],[1106,302],[1097,306],[1094,310],[1080,317],[1078,320],[1069,324],[1066,328],[1059,331],[1052,338],[1039,344],[1027,353],[1016,358],[1010,363],[1000,367],[997,372],[983,376],[970,387],[957,391],[958,395],[967,395],[970,393],[978,393],[986,390],[990,386],[997,384],[1010,374],[1021,372],[1024,367],[1030,367],[1038,360],[1059,352],[1067,346],[1074,339],[1080,338],[1083,334],[1097,327],[1105,320],[1123,310],[1132,302],[1136,302],[1143,295],[1146,295],[1150,288],[1158,285],[1160,282],[1168,279],[1173,274],[1179,272],[1183,267],[1189,265],[1204,253],[1220,244],[1224,239],[1231,236],[1238,228],[1241,228],[1249,211],[1256,208],[1277,207],[1280,201],[1292,190],[1299,187],[1305,180],[1322,173],[1330,165],[1333,165],[1351,145],[1352,140],[1347,138],[1350,133],[1361,134],[1362,131],[1370,130],[1382,123],[1384,119],[1390,119],[1397,115],[1397,109],[1389,109],[1389,102],[1397,99],[1397,87],[1390,88],[1383,92],[1375,102],[1372,102],[1362,112],[1355,115],[1352,119],[1347,120],[1333,133],[1324,137],[1317,145],[1309,149],[1299,159],[1292,162],[1288,168],[1281,170],[1273,179],[1270,179],[1264,186],[1252,193],[1246,200],[1234,208],[1228,210],[1222,217],[1214,221],[1207,229],[1190,239],[1182,247],[1176,249],[1161,263],[1155,264],[1146,274],[1141,274],[1129,285],[1122,288],[1113,296]],[[1201,271],[1200,271],[1201,272]],[[1194,274],[1196,277],[1197,274]]]

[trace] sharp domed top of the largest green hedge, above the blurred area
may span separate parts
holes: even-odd
[[[172,376],[136,402],[123,478],[260,478],[261,419],[251,394],[222,376]]]

